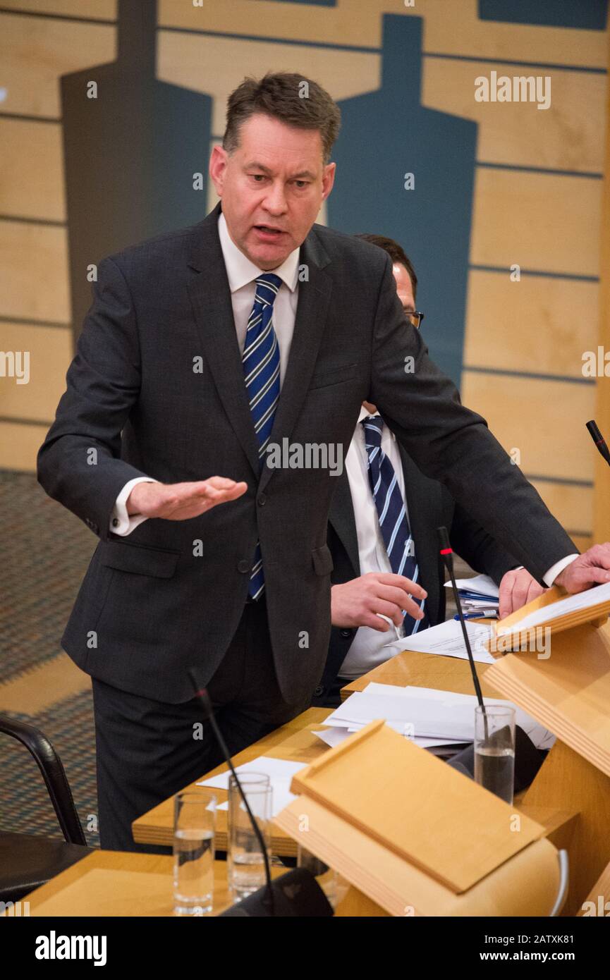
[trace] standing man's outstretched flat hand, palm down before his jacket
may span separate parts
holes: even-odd
[[[187,483],[137,483],[127,497],[127,514],[188,520],[241,497],[247,489],[247,483],[226,476]]]

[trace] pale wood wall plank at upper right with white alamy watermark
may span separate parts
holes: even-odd
[[[492,70],[511,78],[548,75],[549,108],[537,109],[530,102],[476,102],[475,78],[489,78]],[[487,163],[601,172],[606,90],[603,74],[424,59],[423,104],[479,123],[477,156]]]

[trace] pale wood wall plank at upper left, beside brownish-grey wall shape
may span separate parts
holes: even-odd
[[[0,14],[2,113],[61,116],[60,76],[114,61],[116,27]]]

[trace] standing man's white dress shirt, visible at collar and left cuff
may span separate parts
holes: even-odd
[[[258,266],[250,262],[243,252],[239,251],[229,235],[227,221],[222,212],[218,220],[218,233],[221,239],[225,266],[227,267],[227,277],[229,278],[230,304],[233,310],[237,342],[239,344],[239,350],[243,353],[248,319],[254,306],[254,295],[256,293],[255,279],[259,275],[262,275],[265,270],[259,269]],[[281,263],[281,266],[273,270],[276,275],[280,276],[282,282],[280,291],[274,301],[274,329],[280,348],[280,388],[286,371],[292,333],[294,332],[294,319],[296,317],[296,304],[298,302],[298,261],[299,249],[295,248]],[[147,519],[141,514],[132,516],[127,514],[127,497],[136,483],[157,482],[158,480],[150,476],[136,476],[126,483],[117,497],[110,517],[110,530],[113,534],[120,534],[125,537],[138,524],[141,524],[143,520]],[[118,521],[118,523],[115,523],[115,521]]]

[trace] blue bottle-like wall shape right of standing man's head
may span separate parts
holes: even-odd
[[[386,15],[381,89],[339,103],[329,224],[400,242],[420,280],[424,339],[459,384],[477,123],[420,105],[421,66],[422,19]],[[406,172],[414,190],[404,189]]]

